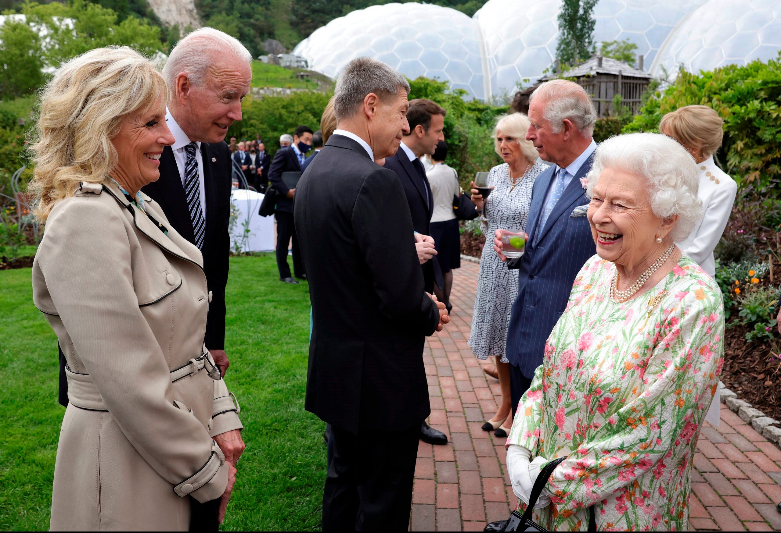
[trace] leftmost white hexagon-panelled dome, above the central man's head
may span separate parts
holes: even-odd
[[[293,53],[309,68],[335,78],[362,55],[379,59],[409,78],[436,77],[485,98],[480,30],[460,11],[406,3],[358,9],[298,43]]]

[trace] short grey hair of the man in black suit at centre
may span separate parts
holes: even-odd
[[[333,93],[333,113],[337,122],[355,115],[366,94],[374,93],[383,100],[397,96],[399,89],[409,94],[407,80],[396,69],[376,59],[353,59],[339,74]]]

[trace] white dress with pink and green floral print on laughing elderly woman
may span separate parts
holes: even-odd
[[[553,531],[687,531],[694,446],[723,364],[719,287],[684,255],[653,289],[610,298],[615,265],[580,270],[508,437],[566,456],[535,520]],[[525,507],[525,504],[521,503]]]

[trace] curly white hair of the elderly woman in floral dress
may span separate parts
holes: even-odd
[[[627,133],[605,140],[597,146],[588,173],[587,197],[594,195],[599,177],[608,168],[645,179],[641,187],[651,197],[654,215],[660,219],[678,215],[670,236],[675,243],[686,240],[702,216],[702,201],[697,197],[697,163],[683,146],[661,133]]]

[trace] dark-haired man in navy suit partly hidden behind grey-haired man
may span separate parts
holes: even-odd
[[[423,282],[426,292],[433,293],[437,277],[442,278],[436,261],[428,261],[433,251],[433,239],[430,235],[431,215],[434,203],[429,179],[419,157],[432,155],[437,143],[444,140],[444,115],[446,111],[433,101],[416,98],[409,101],[407,120],[409,132],[401,140],[401,146],[395,155],[385,159],[385,168],[396,172],[401,187],[407,197],[412,226],[415,228],[415,242],[419,261],[423,265]],[[438,276],[437,276],[438,274]],[[443,286],[443,282],[437,283]],[[420,439],[429,444],[447,444],[448,437],[443,432],[431,428],[425,421],[420,426]]]

